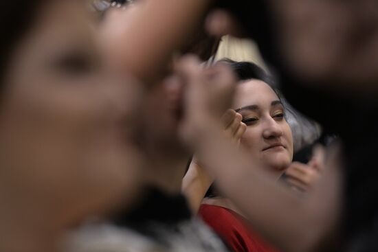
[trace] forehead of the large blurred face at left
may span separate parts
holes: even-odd
[[[46,1],[26,34],[19,54],[32,60],[61,54],[67,49],[94,49],[97,46],[93,19],[84,1]]]

